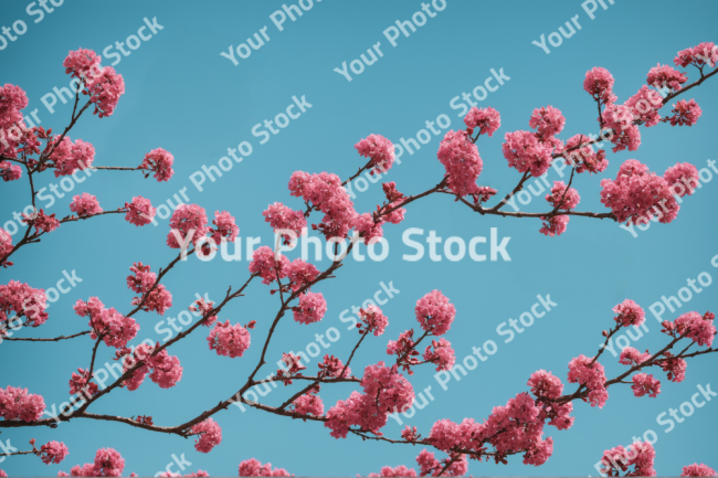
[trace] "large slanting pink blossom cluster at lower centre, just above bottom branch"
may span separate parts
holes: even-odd
[[[327,412],[324,426],[331,429],[335,438],[346,438],[349,427],[358,425],[362,431],[381,434],[388,414],[405,411],[414,400],[411,383],[398,372],[398,368],[379,362],[365,369],[361,379],[363,394],[353,391],[349,399],[338,401]]]

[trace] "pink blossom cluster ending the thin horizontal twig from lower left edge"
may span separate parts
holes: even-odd
[[[102,337],[107,347],[119,349],[127,346],[139,331],[139,325],[130,317],[124,317],[115,308],[105,309],[97,297],[91,297],[86,302],[77,299],[73,307],[80,317],[89,317],[92,333],[89,337]]]

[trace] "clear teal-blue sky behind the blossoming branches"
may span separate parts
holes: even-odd
[[[24,35],[0,51],[0,83],[21,86],[30,98],[25,113],[38,108],[41,125],[55,131],[67,124],[72,106],[59,102],[51,114],[41,97],[70,82],[62,66],[70,50],[85,47],[102,54],[106,46],[136,34],[145,24],[144,18],[156,17],[163,26],[114,65],[126,83],[126,94],[115,114],[102,119],[84,115],[70,137],[94,145],[95,166],[135,167],[149,150],[165,148],[175,156],[175,177],[158,183],[138,172],[97,171],[64,198],[56,198],[45,212],[59,217],[68,215],[72,196],[82,192],[95,194],[105,210],[122,206],[136,195],[149,198],[157,206],[187,188],[190,202],[205,208],[210,217],[217,210],[226,210],[236,217],[243,247],[250,236],[261,237],[263,245],[271,244],[272,231],[262,216],[267,204],[278,201],[300,209],[300,200],[289,196],[287,190],[294,171],[329,171],[346,179],[365,163],[353,145],[369,134],[383,135],[397,144],[401,138],[415,138],[426,120],[434,121],[441,114],[451,119],[447,129],[462,128],[460,111],[450,107],[450,100],[482,85],[492,68],[504,68],[510,81],[479,105],[498,109],[501,127],[494,137],[482,137],[478,141],[484,161],[478,182],[505,194],[520,177],[507,167],[501,155],[505,132],[529,129],[534,108],[547,105],[559,108],[567,118],[559,138],[596,132],[595,104],[582,89],[585,72],[593,66],[608,68],[615,77],[614,93],[619,102],[624,102],[645,83],[646,73],[657,63],[673,65],[679,50],[716,41],[718,9],[708,1],[684,2],[679,10],[668,1],[616,1],[608,10],[599,7],[591,20],[580,1],[448,0],[445,10],[410,38],[401,35],[392,47],[382,32],[397,20],[409,20],[420,10],[421,2],[324,0],[315,2],[297,21],[287,19],[284,31],[278,31],[270,18],[282,8],[279,1],[119,4],[70,0],[45,13],[39,23],[33,22],[38,15],[30,17],[25,8],[25,2],[3,2],[0,7],[2,25],[10,26],[17,20],[28,25]],[[574,15],[582,29],[564,39],[559,47],[551,47],[550,54],[531,44],[541,34],[548,36],[558,31]],[[689,15],[689,21],[674,21],[685,15]],[[661,28],[666,22],[669,29]],[[220,55],[264,26],[271,40],[249,59],[240,59],[239,65]],[[383,57],[361,75],[353,75],[351,82],[332,71],[344,61],[358,59],[377,42],[381,42]],[[104,59],[103,65],[114,60]],[[696,79],[695,72],[689,71],[689,75],[690,81]],[[710,79],[682,96],[695,98],[701,106],[704,113],[697,125],[642,127],[642,146],[637,151],[609,151],[610,164],[603,173],[577,177],[574,187],[581,194],[578,209],[606,211],[600,203],[600,181],[615,178],[626,159],[638,159],[658,174],[678,161],[705,168],[708,159],[715,160],[716,82]],[[313,107],[260,145],[261,138],[251,132],[254,125],[274,119],[293,103],[293,96],[303,95]],[[395,181],[406,194],[436,184],[444,173],[436,159],[440,139],[432,135],[419,151],[404,153],[401,164],[394,164],[387,180]],[[251,144],[253,152],[241,163],[234,163],[217,182],[208,180],[204,191],[199,192],[190,176],[203,164],[215,166],[226,156],[228,148],[236,148],[242,141]],[[21,180],[0,185],[3,224],[12,219],[13,211],[29,203],[25,178],[23,173]],[[550,170],[548,179],[560,178]],[[50,171],[38,181],[39,189],[57,183]],[[545,194],[534,198],[524,210],[547,211]],[[377,183],[358,193],[355,206],[359,212],[371,211],[382,200]],[[718,276],[718,269],[710,264],[718,254],[717,200],[718,181],[714,179],[684,201],[676,221],[668,225],[652,223],[637,237],[611,221],[582,217],[571,219],[560,237],[546,237],[539,234],[541,224],[535,219],[479,216],[450,196],[423,199],[411,204],[403,223],[384,227],[390,244],[386,261],[359,263],[348,258],[336,279],[316,287],[328,302],[320,322],[302,326],[285,316],[268,350],[270,364],[261,374],[266,376],[276,370],[282,352],[303,350],[315,341],[315,333],[326,333],[330,327],[341,336],[321,354],[332,353],[346,361],[358,334],[347,330],[340,314],[371,298],[381,289],[381,282],[391,282],[400,293],[381,306],[389,317],[389,327],[383,336],[367,339],[359,349],[351,367],[360,373],[363,367],[389,359],[387,341],[408,328],[418,328],[413,311],[416,300],[440,289],[457,310],[445,336],[456,350],[457,361],[487,340],[494,340],[498,351],[461,381],[448,382],[446,391],[439,386],[433,368],[419,369],[411,378],[414,390],[431,385],[435,400],[412,418],[402,419],[416,426],[423,436],[441,418],[481,421],[493,406],[504,405],[517,393],[527,391],[526,382],[538,369],[553,372],[566,383],[568,362],[581,353],[595,353],[601,331],[614,323],[611,309],[626,298],[646,309],[650,330],[632,346],[641,351],[662,348],[667,337],[659,332],[659,323],[648,307],[662,295],[675,296],[686,279],[695,279],[700,273]],[[312,219],[318,221],[316,216]],[[106,307],[128,312],[134,295],[127,289],[126,276],[133,262],[141,261],[157,270],[176,256],[176,251],[165,244],[168,221],[158,219],[158,223],[136,227],[120,215],[105,215],[63,224],[40,244],[14,254],[15,265],[0,272],[3,284],[18,279],[32,287],[55,287],[63,270],[73,269],[82,278],[81,284],[52,304],[45,325],[23,329],[19,337],[50,338],[85,330],[87,320],[77,317],[72,306],[91,296],[99,297]],[[403,254],[414,253],[402,242],[402,233],[409,227],[423,229],[424,238],[429,231],[436,231],[444,240],[458,236],[467,243],[474,236],[488,237],[490,229],[496,227],[499,237],[510,237],[507,251],[511,261],[501,261],[499,256],[497,262],[474,262],[466,255],[458,262],[432,262],[429,254],[418,262],[403,261]],[[14,235],[13,241],[18,237]],[[244,252],[236,262],[217,257],[203,263],[191,257],[175,267],[162,280],[172,294],[173,307],[163,317],[151,312],[135,316],[141,330],[131,343],[160,340],[162,334],[156,326],[162,326],[158,322],[177,318],[197,293],[208,293],[210,299],[219,301],[230,285],[236,288],[243,284],[249,276]],[[478,252],[488,253],[488,246]],[[288,256],[294,258],[297,252]],[[323,261],[316,264],[324,269],[330,263],[323,254]],[[664,319],[673,320],[690,310],[715,310],[716,288],[716,284],[704,288],[676,312],[666,312]],[[505,337],[497,334],[497,326],[509,318],[518,319],[537,302],[537,295],[547,294],[558,306],[511,342],[504,343]],[[231,302],[220,315],[222,321],[230,319],[232,323],[257,321],[252,347],[243,358],[218,357],[208,350],[209,331],[200,328],[168,350],[179,357],[183,367],[177,386],[161,390],[146,380],[136,392],[113,391],[89,411],[151,415],[156,424],[167,426],[197,416],[230,397],[244,383],[258,360],[277,308],[278,298],[270,295],[270,287],[258,280],[253,283],[245,297]],[[71,373],[88,367],[91,351],[88,337],[53,343],[6,341],[0,346],[0,385],[28,387],[31,393],[41,394],[49,407],[60,405],[68,397]],[[98,363],[110,361],[113,355],[113,350],[102,346]],[[315,359],[309,364],[313,373],[316,362]],[[610,378],[624,370],[610,353],[602,357],[601,363]],[[663,384],[657,399],[636,399],[630,386],[612,386],[602,410],[574,403],[576,424],[570,431],[546,427],[547,435],[555,440],[553,455],[546,465],[526,466],[520,456],[515,456],[507,466],[472,461],[469,474],[596,476],[593,465],[604,449],[629,445],[633,436],[650,429],[658,437],[654,446],[659,475],[679,475],[684,465],[696,461],[716,468],[718,436],[711,424],[718,418],[718,400],[696,410],[669,433],[664,432],[667,425],[656,423],[661,413],[689,401],[699,384],[718,389],[715,358],[690,360],[683,383],[668,382],[662,371],[651,373]],[[351,390],[346,384],[325,386],[321,396],[326,410],[349,396]],[[566,391],[572,390],[574,385],[567,384]],[[278,405],[293,393],[281,387],[262,402]],[[222,427],[223,438],[208,455],[196,452],[192,439],[89,419],[73,419],[55,429],[3,429],[0,439],[10,439],[19,449],[28,449],[28,440],[33,437],[38,445],[56,439],[67,445],[70,455],[61,465],[51,466],[32,456],[10,457],[0,463],[0,468],[10,475],[54,476],[59,470],[68,471],[75,464],[92,461],[99,447],[113,447],[126,460],[125,472],[141,476],[163,470],[172,461],[172,454],[184,454],[191,461],[183,472],[203,469],[213,476],[236,476],[239,463],[251,457],[271,461],[297,476],[367,475],[378,472],[382,466],[400,464],[418,469],[414,458],[421,447],[368,443],[352,436],[335,439],[319,423],[254,410],[242,413],[234,406],[214,418]],[[389,419],[383,432],[398,438],[402,428]],[[436,456],[444,455],[437,452]]]

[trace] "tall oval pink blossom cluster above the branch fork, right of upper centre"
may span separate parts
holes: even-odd
[[[476,179],[484,169],[478,149],[464,130],[450,130],[442,139],[436,153],[446,170],[447,185],[456,195],[476,192]]]

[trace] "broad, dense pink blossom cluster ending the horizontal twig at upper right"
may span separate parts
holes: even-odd
[[[672,185],[635,159],[621,164],[615,180],[601,180],[601,202],[619,222],[645,224],[657,215],[661,223],[667,224],[680,209]]]

